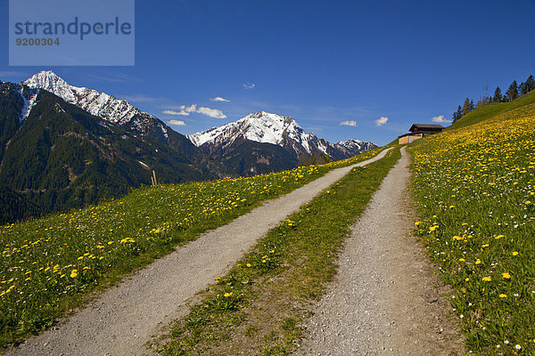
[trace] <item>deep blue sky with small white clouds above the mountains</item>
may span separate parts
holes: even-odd
[[[535,75],[534,15],[532,0],[137,0],[135,66],[10,67],[0,0],[0,79],[52,69],[181,134],[266,110],[331,142],[385,144]]]

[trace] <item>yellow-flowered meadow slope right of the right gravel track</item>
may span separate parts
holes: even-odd
[[[412,145],[423,237],[475,354],[535,354],[535,104]]]

